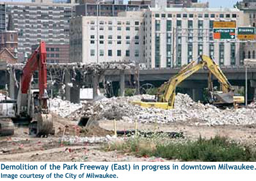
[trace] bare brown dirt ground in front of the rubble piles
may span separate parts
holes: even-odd
[[[63,130],[67,138],[81,138],[90,136],[106,136],[113,134],[113,122],[99,122],[94,130],[81,129],[76,122],[54,116],[56,134],[48,138],[31,138],[28,128],[16,127],[15,134],[0,138],[0,161],[159,161],[156,158],[138,158],[120,152],[104,152],[101,148],[104,143],[90,143],[90,141],[77,141],[68,143],[62,139]],[[118,130],[134,129],[134,123],[117,122]],[[106,129],[106,130],[104,130]],[[140,130],[183,132],[185,138],[196,139],[199,136],[211,138],[216,135],[227,136],[237,142],[256,145],[256,125],[218,127],[195,126],[184,123],[168,125],[138,124]]]

